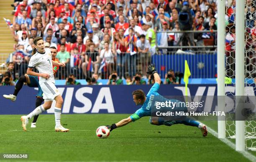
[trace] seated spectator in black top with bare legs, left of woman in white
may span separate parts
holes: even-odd
[[[89,61],[91,61],[91,62],[89,62]],[[90,71],[89,66],[91,66],[91,64],[92,64],[93,71]],[[98,51],[95,51],[95,44],[90,43],[89,50],[86,51],[85,62],[82,63],[82,69],[84,72],[84,76],[87,76],[87,72],[98,73],[99,65],[100,65],[99,53],[98,53]]]

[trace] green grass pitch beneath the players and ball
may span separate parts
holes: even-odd
[[[0,115],[0,153],[29,154],[32,161],[248,161],[210,133],[204,138],[196,127],[151,125],[149,117],[99,139],[97,127],[128,114],[62,114],[61,123],[70,129],[64,133],[54,132],[54,114],[40,115],[37,128],[30,128],[30,121],[27,132],[20,116]],[[216,122],[208,125],[217,127]]]

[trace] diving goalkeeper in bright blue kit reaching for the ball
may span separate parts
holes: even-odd
[[[128,118],[123,119],[116,124],[112,124],[111,126],[107,125],[107,127],[110,129],[110,131],[112,131],[113,129],[116,129],[118,127],[123,127],[130,122],[135,122],[136,120],[142,118],[143,116],[151,116],[151,109],[154,109],[154,106],[155,106],[155,104],[152,104],[152,103],[169,101],[169,99],[164,98],[157,92],[160,87],[161,79],[160,79],[160,76],[158,75],[158,73],[156,72],[154,65],[151,64],[148,66],[147,73],[154,75],[154,80],[155,80],[155,84],[152,86],[152,88],[148,92],[147,96],[140,89],[133,91],[133,93],[132,93],[133,101],[135,102],[136,105],[142,105],[141,108],[138,109],[134,114],[132,114]],[[171,100],[171,101],[173,101],[173,100]],[[177,100],[175,100],[175,101],[177,101]],[[188,117],[186,117],[184,120],[175,121],[175,120],[165,120],[162,117],[151,116],[149,122],[154,125],[172,126],[173,124],[185,124],[185,125],[189,125],[189,126],[193,126],[193,127],[198,127],[201,130],[203,137],[206,137],[207,133],[208,133],[207,128],[204,124],[202,124],[198,121],[189,119]]]

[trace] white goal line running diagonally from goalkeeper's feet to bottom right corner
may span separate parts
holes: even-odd
[[[207,130],[208,132],[210,132],[213,136],[215,136],[216,138],[218,138],[218,133],[215,132],[213,129],[211,129],[210,127],[207,126]],[[219,138],[218,138],[219,139]],[[224,139],[220,139],[220,141],[224,142],[225,144],[227,144],[229,147],[231,147],[232,149],[236,150],[236,144],[234,144],[233,142],[231,142],[230,140],[224,138]],[[244,157],[246,157],[247,159],[251,160],[252,162],[256,162],[256,157],[253,156],[253,154],[251,154],[250,152],[247,151],[237,151],[241,154],[243,154]]]

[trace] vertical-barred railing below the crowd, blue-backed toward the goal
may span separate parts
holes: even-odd
[[[102,79],[108,79],[113,71],[117,71],[119,78],[127,76],[132,78],[137,72],[146,76],[147,66],[150,63],[155,64],[161,78],[164,78],[170,69],[177,73],[183,73],[185,60],[187,60],[191,71],[190,78],[215,78],[217,74],[217,53],[215,51],[157,51],[154,55],[151,53],[136,53],[134,55],[120,53],[114,55],[110,60],[100,58],[97,63],[93,63],[97,53],[88,55],[87,61],[80,59],[80,64],[79,59],[71,56],[66,67],[59,67],[55,79],[66,79],[71,73],[77,79],[91,78],[93,73],[97,73]],[[28,63],[15,63],[14,73],[16,76],[24,75],[27,68]]]

